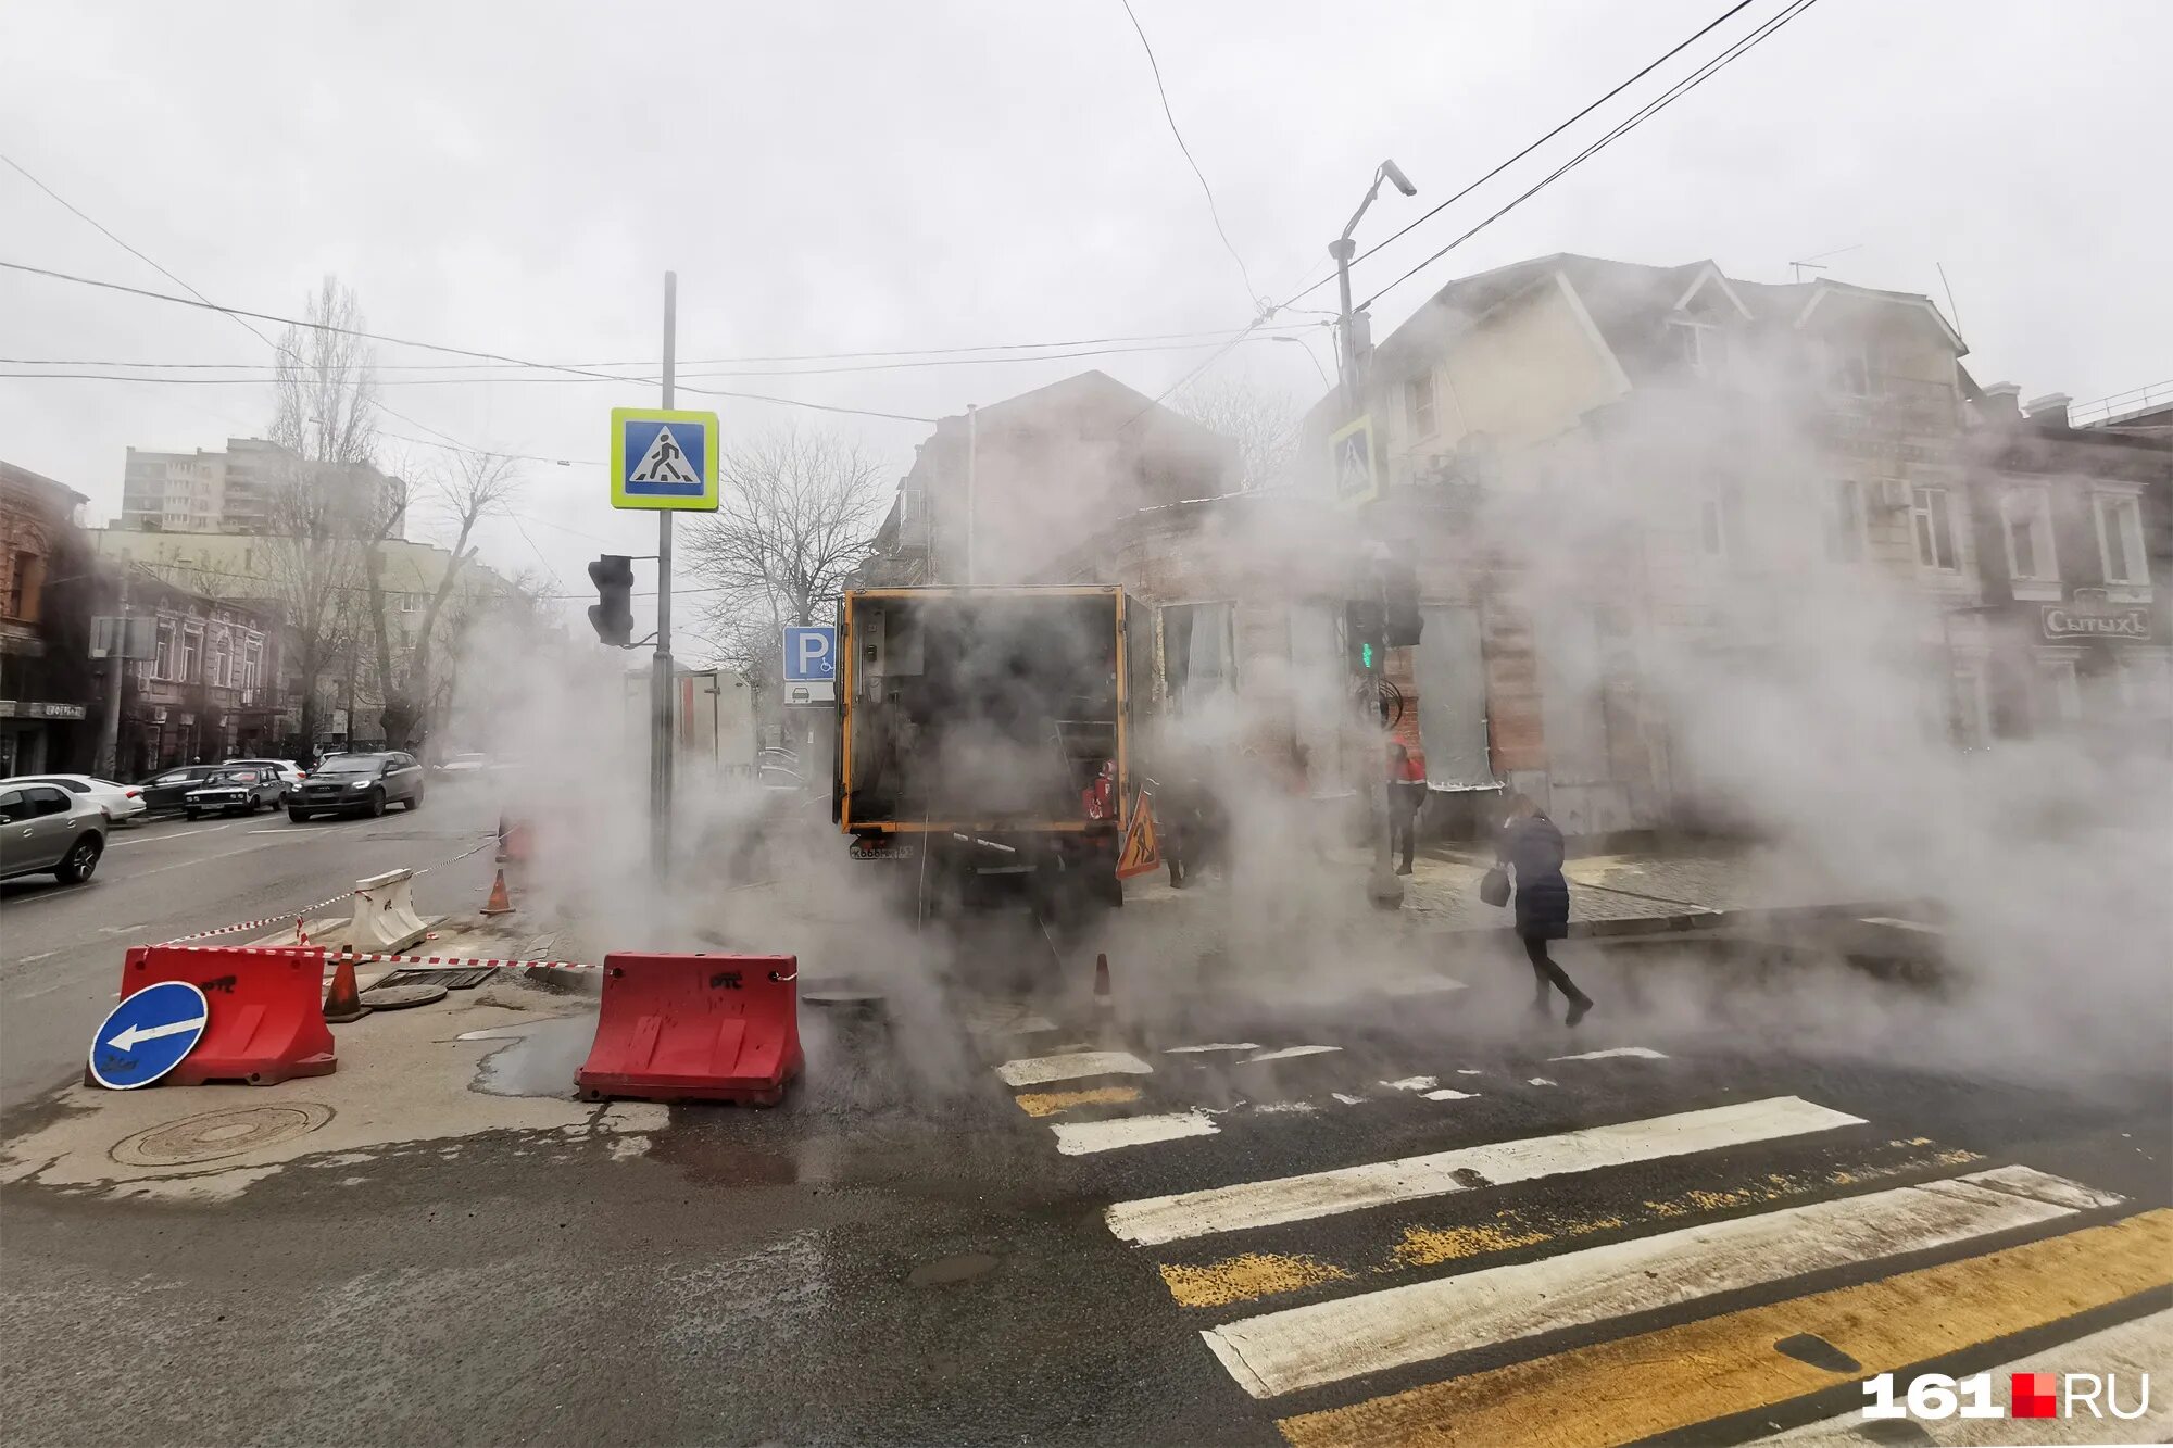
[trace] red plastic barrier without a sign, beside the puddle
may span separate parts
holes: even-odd
[[[774,1107],[800,1074],[800,963],[789,954],[606,954],[587,1100]]]

